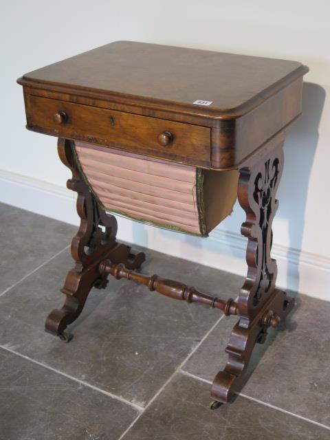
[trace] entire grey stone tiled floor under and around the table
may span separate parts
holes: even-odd
[[[75,232],[0,204],[0,440],[330,439],[330,303],[298,295],[241,394],[210,411],[235,322],[217,310],[111,279],[91,292],[72,342],[43,331],[63,303]],[[146,273],[239,292],[239,276],[146,254]]]

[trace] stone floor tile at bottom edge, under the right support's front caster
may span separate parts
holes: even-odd
[[[329,440],[330,430],[237,397],[211,411],[209,385],[175,375],[123,440]]]

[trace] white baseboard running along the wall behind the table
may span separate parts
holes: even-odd
[[[62,186],[0,170],[0,201],[78,225],[74,192]],[[119,238],[196,263],[245,276],[246,239],[215,229],[208,239],[187,238],[118,217]],[[330,300],[330,259],[273,244],[278,263],[278,285],[314,298]]]

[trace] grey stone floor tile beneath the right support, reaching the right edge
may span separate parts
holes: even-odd
[[[285,324],[256,345],[241,392],[330,426],[329,316],[329,302],[298,295]],[[223,318],[183,369],[212,381],[225,366],[235,322]]]

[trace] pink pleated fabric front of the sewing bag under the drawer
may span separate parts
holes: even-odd
[[[104,207],[200,234],[196,168],[75,142],[83,173]]]

